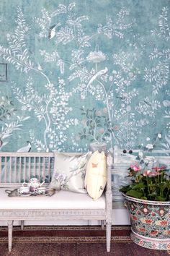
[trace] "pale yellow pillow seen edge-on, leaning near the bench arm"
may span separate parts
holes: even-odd
[[[97,200],[104,191],[107,182],[106,155],[95,151],[86,167],[85,187],[90,197]]]

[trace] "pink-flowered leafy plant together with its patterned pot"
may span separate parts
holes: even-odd
[[[148,144],[149,151],[153,149]],[[144,150],[147,150],[147,145]],[[170,249],[169,168],[140,151],[128,168],[130,184],[120,189],[130,213],[131,239],[148,249]]]

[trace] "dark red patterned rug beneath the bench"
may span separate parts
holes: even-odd
[[[111,252],[106,252],[100,226],[14,226],[12,252],[6,227],[0,227],[1,256],[168,256],[170,251],[146,249],[130,239],[130,226],[112,226]]]

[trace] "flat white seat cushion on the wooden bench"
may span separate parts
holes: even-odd
[[[5,188],[0,188],[1,209],[105,209],[105,197],[102,195],[94,201],[88,194],[62,190],[55,192],[51,197],[45,195],[9,197]]]

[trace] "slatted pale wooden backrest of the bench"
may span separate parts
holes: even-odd
[[[80,155],[81,153],[65,153]],[[56,153],[0,152],[0,187],[16,187],[33,176],[49,184],[57,161]]]

